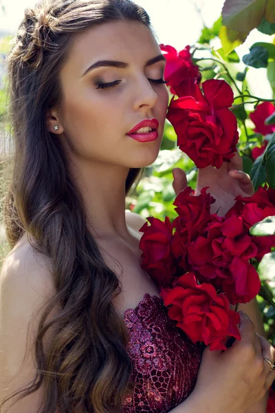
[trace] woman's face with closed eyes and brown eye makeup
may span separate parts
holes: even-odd
[[[146,63],[159,55],[162,52],[151,30],[140,22],[105,23],[77,35],[61,70],[64,100],[58,114],[58,129],[69,156],[127,168],[155,161],[168,91],[165,84],[152,81],[164,78],[165,61]],[[123,64],[88,70],[107,60]],[[113,87],[100,88],[111,82]],[[159,122],[156,140],[138,142],[126,135],[140,121],[152,118]]]

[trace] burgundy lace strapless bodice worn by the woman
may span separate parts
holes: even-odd
[[[122,403],[122,413],[167,413],[192,392],[203,343],[193,344],[167,314],[161,297],[144,294],[124,312],[136,383]]]

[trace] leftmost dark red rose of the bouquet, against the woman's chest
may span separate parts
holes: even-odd
[[[140,229],[144,234],[140,238],[142,250],[142,263],[140,264],[153,277],[157,284],[166,286],[170,284],[176,272],[175,258],[170,253],[173,240],[173,226],[168,217],[165,222],[153,217],[148,217],[148,222]]]

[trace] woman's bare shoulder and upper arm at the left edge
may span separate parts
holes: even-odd
[[[26,388],[36,372],[32,345],[41,318],[41,307],[53,293],[51,274],[41,258],[34,256],[29,244],[20,246],[5,258],[1,270],[0,403],[14,392]],[[48,330],[45,351],[49,348],[52,334],[54,331]],[[45,388],[41,385],[14,403],[19,395],[4,403],[1,412],[38,412],[44,401]]]

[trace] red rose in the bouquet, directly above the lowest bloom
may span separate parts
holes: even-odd
[[[231,304],[248,302],[259,293],[259,275],[248,263],[257,248],[241,217],[213,214],[203,236],[191,242],[187,250],[188,263],[198,273],[199,281],[211,280]]]

